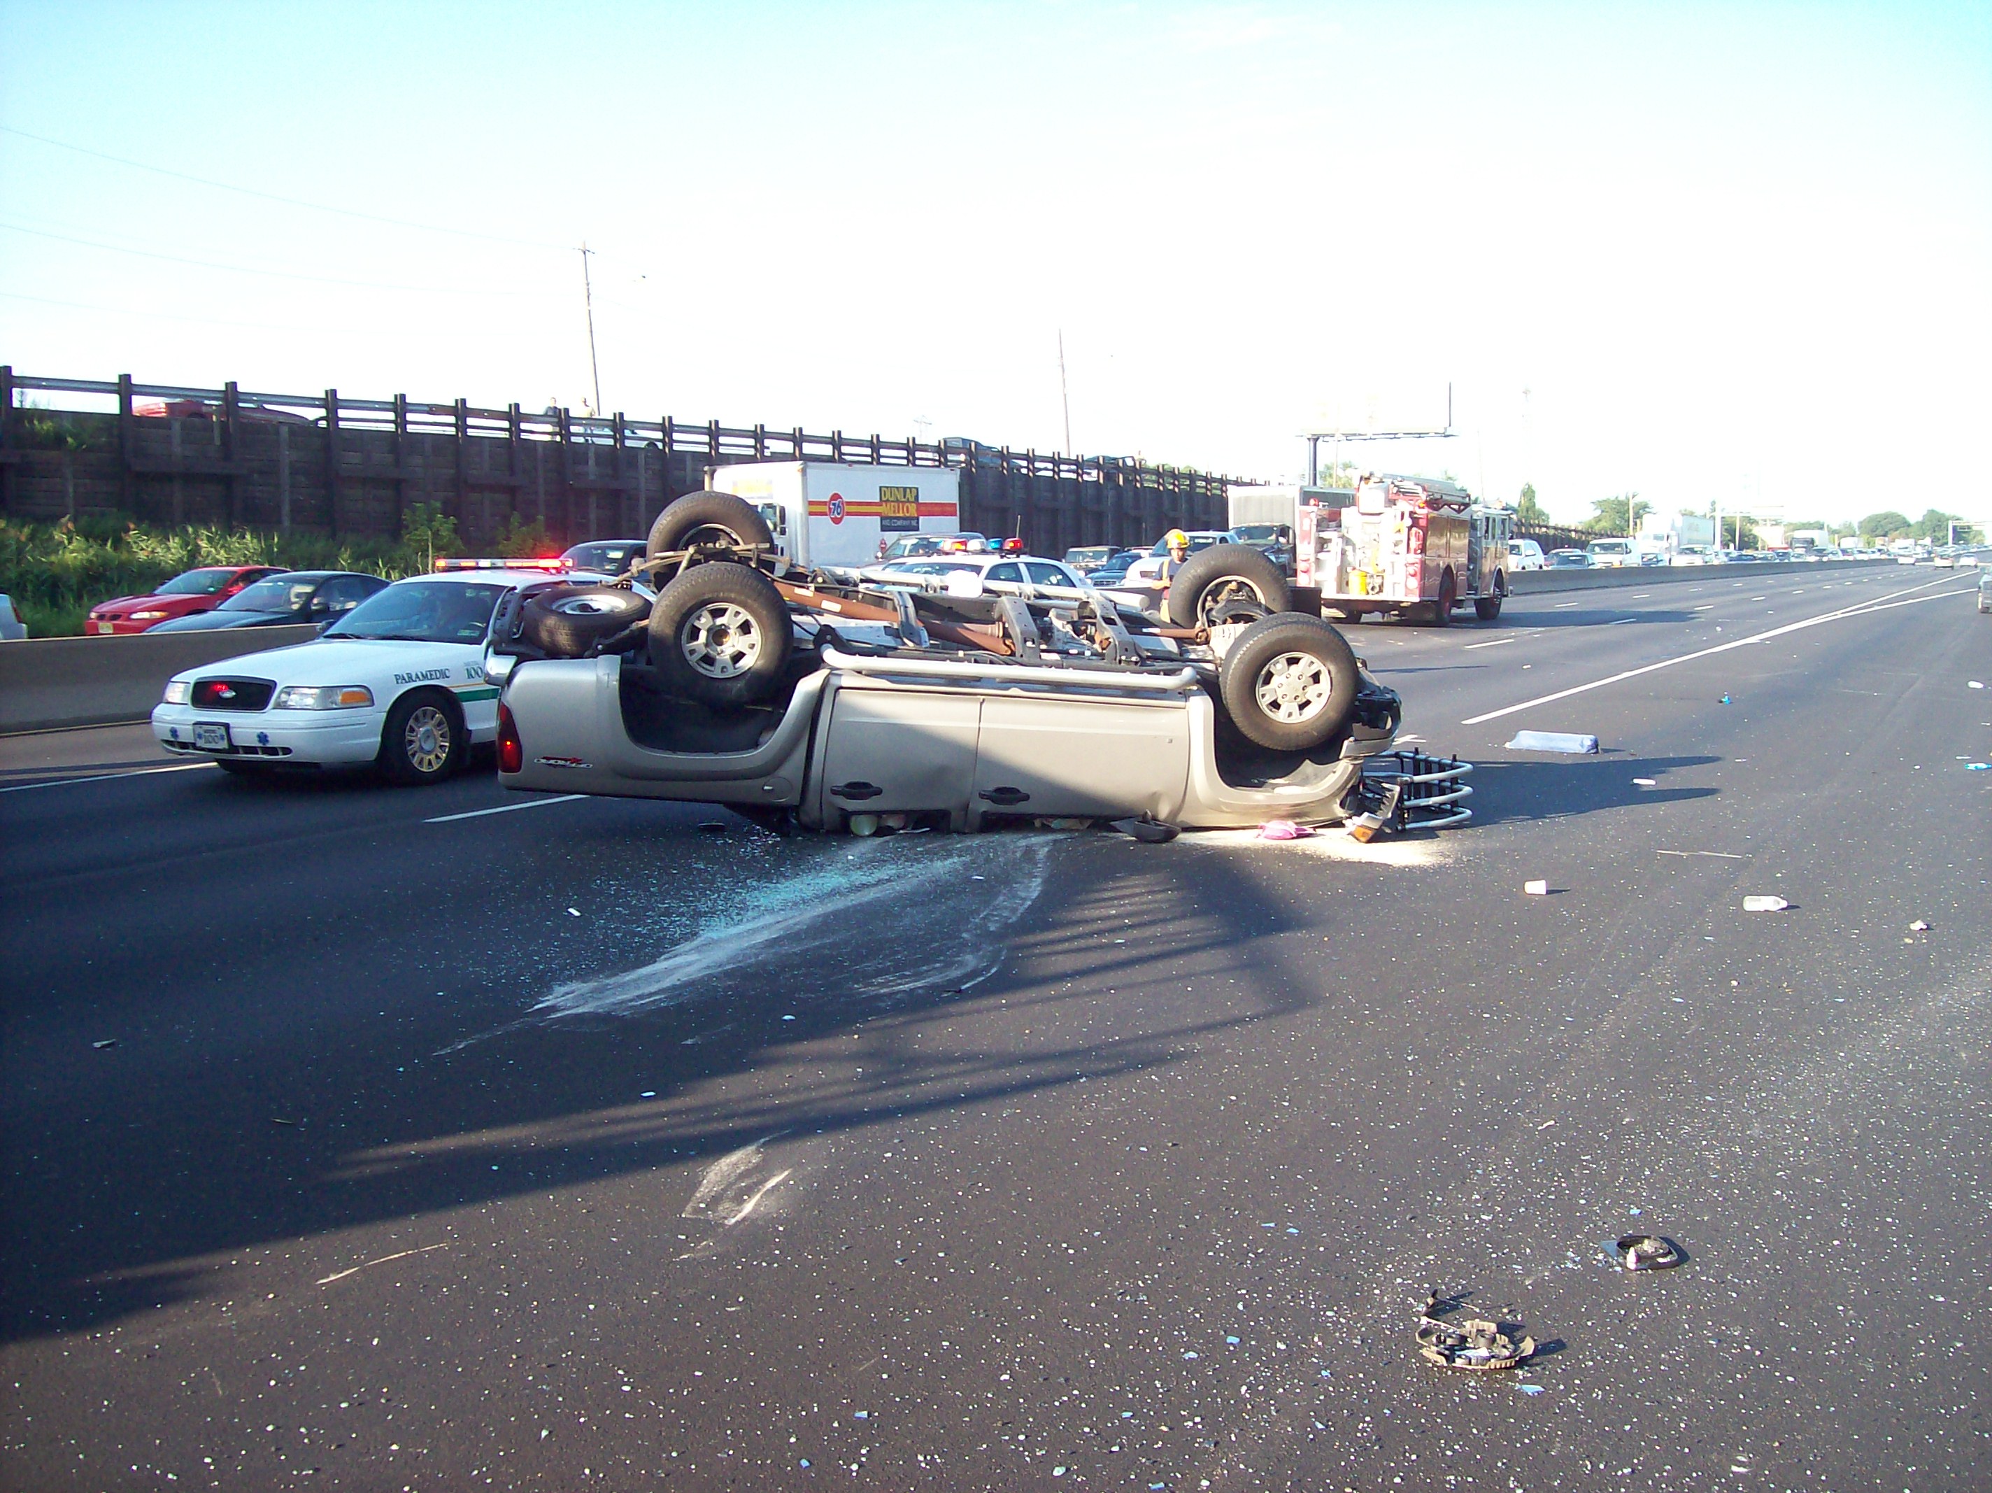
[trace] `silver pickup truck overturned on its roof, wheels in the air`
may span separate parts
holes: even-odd
[[[695,492],[618,584],[500,606],[500,781],[857,833],[1468,817],[1468,765],[1394,751],[1396,692],[1289,610],[1261,554],[1223,548],[1161,618],[1094,590],[805,570],[755,508]]]

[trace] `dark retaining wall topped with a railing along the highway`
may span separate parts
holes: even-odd
[[[157,522],[394,534],[436,504],[466,538],[536,522],[574,542],[641,534],[705,466],[843,460],[954,466],[964,526],[1054,542],[1145,544],[1159,526],[1219,526],[1211,472],[1116,456],[1066,456],[974,441],[815,435],[627,415],[271,395],[239,389],[50,379],[0,367],[0,512],[124,512]]]

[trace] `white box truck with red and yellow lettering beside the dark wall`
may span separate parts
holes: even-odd
[[[962,474],[952,466],[757,460],[713,466],[709,484],[755,504],[775,548],[797,564],[869,566],[880,542],[962,526]]]

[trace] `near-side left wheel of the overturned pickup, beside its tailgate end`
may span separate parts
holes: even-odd
[[[671,694],[705,706],[757,706],[789,664],[789,604],[753,566],[691,566],[649,608],[649,662]]]

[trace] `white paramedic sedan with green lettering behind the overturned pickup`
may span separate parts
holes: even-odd
[[[492,612],[556,578],[554,566],[456,564],[466,568],[394,582],[313,642],[175,674],[153,736],[237,775],[373,763],[400,783],[448,777],[498,736],[498,690],[484,682]]]

